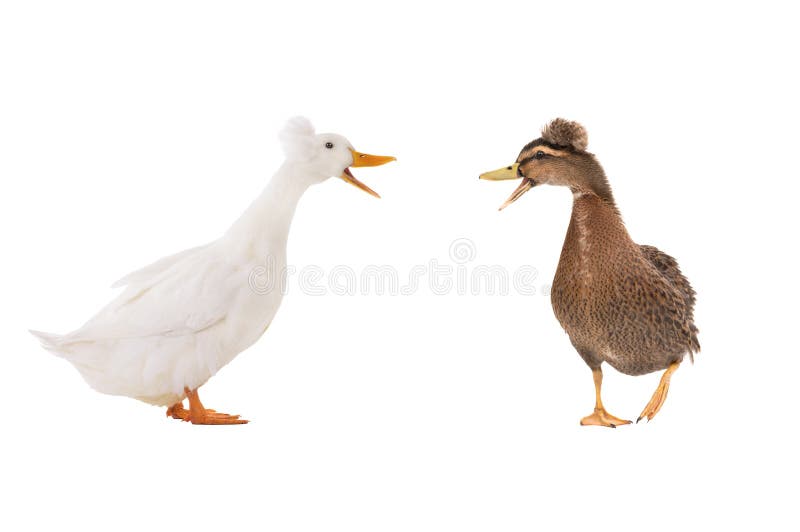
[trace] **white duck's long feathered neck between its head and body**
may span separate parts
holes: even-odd
[[[308,172],[305,165],[288,161],[275,172],[264,191],[225,234],[234,252],[259,258],[267,254],[285,257],[297,203],[310,184],[303,175]]]

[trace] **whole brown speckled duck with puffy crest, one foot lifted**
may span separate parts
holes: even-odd
[[[481,179],[522,179],[501,210],[537,185],[572,191],[572,218],[551,292],[553,311],[594,377],[594,412],[581,425],[616,427],[630,421],[603,407],[601,364],[627,375],[666,370],[636,421],[652,419],[684,356],[700,350],[695,292],[675,259],[631,240],[603,167],[586,151],[587,143],[583,126],[557,118],[522,148],[514,164]]]

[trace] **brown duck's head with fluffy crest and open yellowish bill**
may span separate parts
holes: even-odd
[[[500,210],[542,184],[593,193],[613,204],[603,168],[594,155],[586,151],[588,138],[586,129],[579,123],[556,118],[542,128],[541,137],[522,148],[514,164],[481,174],[480,178],[489,181],[522,179]]]

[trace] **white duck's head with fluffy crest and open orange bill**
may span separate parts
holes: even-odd
[[[336,133],[315,134],[314,126],[302,116],[289,119],[279,138],[287,162],[303,166],[298,179],[306,179],[309,185],[315,185],[331,177],[340,177],[376,198],[380,197],[378,193],[356,179],[350,167],[380,166],[396,160],[385,155],[357,152],[349,140]]]

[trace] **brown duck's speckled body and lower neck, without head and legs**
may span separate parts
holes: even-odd
[[[642,375],[700,348],[694,291],[675,259],[633,242],[613,204],[593,194],[576,193],[551,299],[592,367]]]

